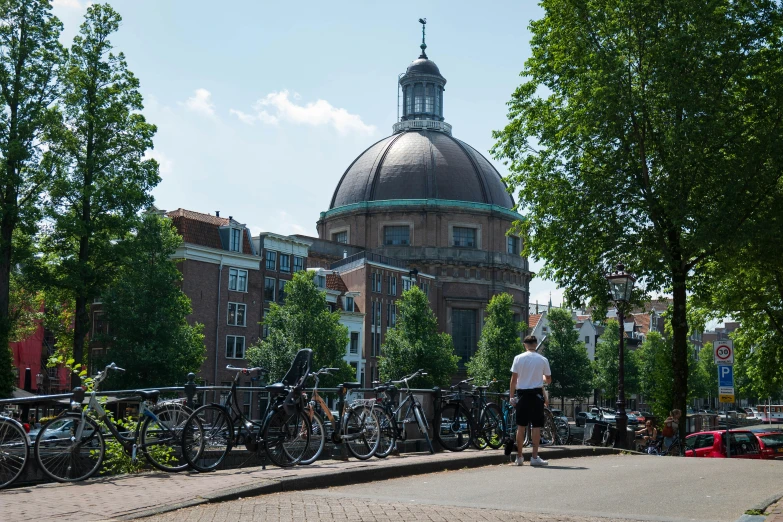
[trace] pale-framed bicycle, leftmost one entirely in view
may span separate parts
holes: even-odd
[[[139,451],[147,461],[161,471],[182,471],[188,467],[187,452],[200,451],[192,442],[199,437],[200,427],[183,431],[184,420],[190,414],[180,402],[158,403],[160,392],[137,391],[140,400],[139,422],[131,434],[109,417],[97,398],[100,383],[109,371],[123,372],[109,364],[93,378],[93,388],[86,407],[82,406],[84,388],[73,390],[70,410],[50,420],[35,439],[35,458],[41,470],[58,482],[77,482],[93,476],[101,468],[106,452],[106,437],[113,437],[136,461]],[[104,435],[104,428],[110,435]],[[185,444],[182,441],[186,441]]]

